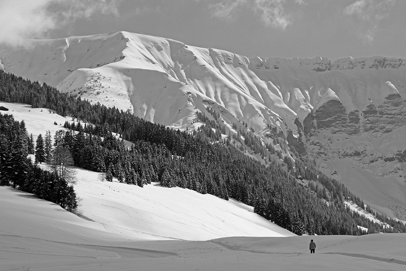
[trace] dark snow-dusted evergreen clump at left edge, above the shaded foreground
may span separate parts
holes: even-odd
[[[77,200],[73,186],[55,172],[45,171],[32,163],[28,154],[34,154],[34,149],[24,121],[0,114],[0,183],[33,193],[74,212]]]

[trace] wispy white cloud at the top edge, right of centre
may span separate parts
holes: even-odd
[[[210,4],[212,17],[233,21],[238,16],[238,10],[251,9],[259,15],[265,26],[285,29],[292,23],[291,16],[285,13],[285,0],[226,0],[217,4]]]

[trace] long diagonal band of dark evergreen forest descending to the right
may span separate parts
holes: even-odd
[[[253,206],[258,215],[299,235],[406,232],[404,224],[378,213],[374,215],[390,226],[371,222],[350,211],[344,201],[352,200],[364,207],[362,199],[298,156],[295,160],[285,156],[284,163],[281,163],[276,157],[283,157],[282,152],[276,151],[272,145],[261,144],[246,125],[239,124],[238,127],[238,132],[245,134],[245,140],[230,134],[223,139],[221,134],[225,129],[213,109],[208,112],[216,116],[214,120],[204,114],[196,116],[203,123],[199,129],[174,130],[145,121],[130,112],[92,105],[71,94],[60,93],[45,83],[30,82],[2,71],[0,100],[47,108],[78,120],[64,123],[66,129],[53,135],[54,148],[69,150],[76,166],[106,173],[107,181],[115,177],[122,183],[141,187],[159,182],[162,186],[192,189],[225,200],[232,197]],[[21,123],[13,125],[21,126]],[[5,133],[5,128],[0,128],[2,134]],[[22,142],[29,140],[26,131],[22,137]],[[10,141],[7,136],[0,140]],[[124,140],[131,143],[130,147]],[[275,141],[280,141],[283,146],[277,137]],[[8,146],[10,144],[8,142]],[[245,155],[247,148],[266,158],[267,163]],[[7,150],[1,151],[5,156]],[[40,155],[36,153],[36,157],[46,159],[46,151],[41,148],[38,151]],[[10,155],[15,153],[7,152]],[[19,157],[27,154],[25,151]],[[3,166],[4,163],[18,163],[18,159],[3,156],[0,161],[3,179],[9,178],[10,184],[22,189],[34,186],[31,182],[35,182],[35,178],[27,177],[22,183],[13,172],[4,174],[3,168],[7,167]],[[295,156],[294,153],[291,156]],[[27,166],[33,171],[38,170],[32,163],[27,162]],[[44,172],[42,174],[45,176]],[[299,179],[306,180],[307,185]]]

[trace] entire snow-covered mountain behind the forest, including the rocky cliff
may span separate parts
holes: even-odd
[[[371,207],[406,218],[406,59],[249,59],[122,31],[29,40],[0,48],[0,63],[171,127],[195,128],[210,106],[230,130],[244,122],[264,140],[283,131]]]

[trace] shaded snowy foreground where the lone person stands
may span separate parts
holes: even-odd
[[[9,187],[0,187],[0,202],[1,270],[342,271],[406,266],[406,234],[136,240]],[[310,239],[317,244],[316,254],[309,254]]]

